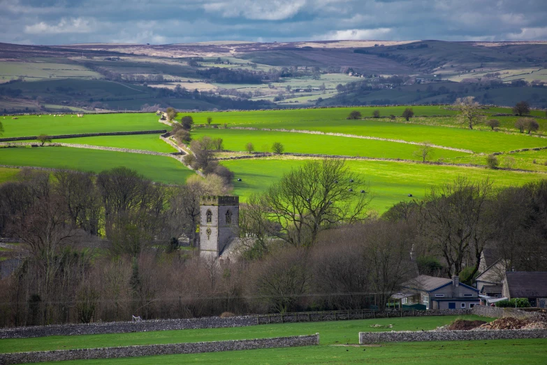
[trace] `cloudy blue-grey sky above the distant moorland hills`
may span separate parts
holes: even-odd
[[[544,41],[547,0],[0,0],[0,42]]]

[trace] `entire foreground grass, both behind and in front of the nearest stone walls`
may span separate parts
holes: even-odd
[[[448,324],[456,318],[456,316],[405,317],[340,322],[265,324],[224,329],[8,339],[0,340],[0,352],[221,341],[293,336],[319,332],[321,336],[321,345],[319,346],[80,360],[51,364],[521,364],[523,356],[527,364],[545,364],[547,361],[546,339],[357,345],[359,331],[428,330]],[[465,316],[462,318],[490,320],[478,316]],[[370,327],[372,324],[384,326],[391,324],[393,327],[379,329]]]

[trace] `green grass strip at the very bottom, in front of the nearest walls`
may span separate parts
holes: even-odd
[[[530,364],[547,362],[547,340],[387,343],[379,347],[309,346],[205,354],[126,357],[122,359],[50,362],[95,364]]]

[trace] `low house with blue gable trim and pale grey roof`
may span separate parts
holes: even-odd
[[[452,279],[419,275],[404,282],[403,292],[395,294],[404,304],[422,304],[426,309],[465,309],[479,304],[479,290]],[[395,298],[395,296],[393,296]]]

